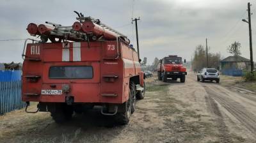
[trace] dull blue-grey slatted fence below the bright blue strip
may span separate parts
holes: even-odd
[[[0,115],[26,106],[21,100],[21,81],[0,82]]]

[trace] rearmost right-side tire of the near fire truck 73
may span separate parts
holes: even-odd
[[[115,121],[117,124],[125,125],[129,123],[131,114],[132,114],[132,98],[131,98],[131,92],[129,92],[129,100],[127,102],[123,103],[124,106],[124,112],[118,112],[115,115]]]

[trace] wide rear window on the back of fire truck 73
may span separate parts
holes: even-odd
[[[50,79],[92,79],[92,66],[51,66]]]

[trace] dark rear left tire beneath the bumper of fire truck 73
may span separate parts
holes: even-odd
[[[56,105],[56,110],[51,112],[52,119],[56,123],[64,123],[72,119],[73,109],[68,105]]]

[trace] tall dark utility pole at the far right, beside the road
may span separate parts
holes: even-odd
[[[251,24],[251,4],[248,3],[248,24],[249,24],[249,37],[250,37],[250,61],[251,61],[251,73],[253,72],[253,53],[252,53],[252,24]]]

